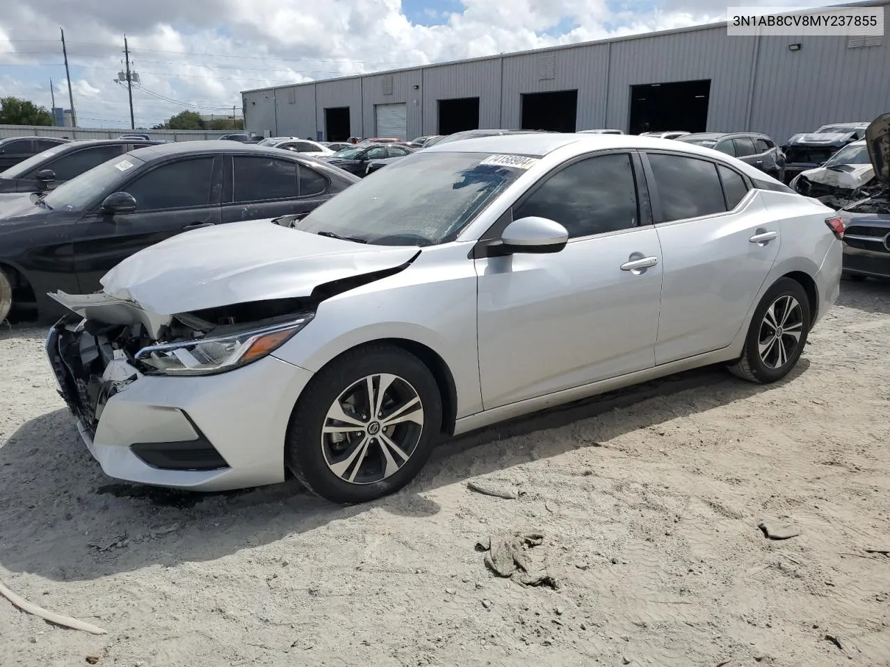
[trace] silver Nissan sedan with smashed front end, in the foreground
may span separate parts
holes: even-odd
[[[635,136],[440,143],[303,218],[150,246],[46,350],[112,477],[363,502],[442,438],[721,363],[797,364],[843,225],[713,149]]]

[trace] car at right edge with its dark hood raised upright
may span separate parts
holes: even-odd
[[[878,189],[842,208],[844,275],[854,280],[890,277],[890,113],[875,118],[865,133]]]

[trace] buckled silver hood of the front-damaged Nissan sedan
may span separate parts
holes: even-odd
[[[271,220],[185,232],[131,255],[101,278],[104,292],[163,315],[309,296],[324,283],[394,269],[415,246],[363,245]]]

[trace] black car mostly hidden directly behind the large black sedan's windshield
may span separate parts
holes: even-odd
[[[0,172],[0,192],[43,192],[134,149],[160,141],[97,139],[69,141]]]

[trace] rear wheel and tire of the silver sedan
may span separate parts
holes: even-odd
[[[781,380],[797,365],[811,321],[810,301],[803,286],[791,278],[780,278],[757,305],[741,358],[729,370],[749,382]]]

